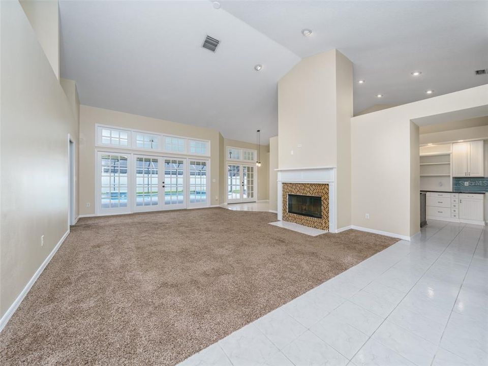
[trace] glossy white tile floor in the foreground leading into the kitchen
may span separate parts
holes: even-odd
[[[488,229],[430,221],[180,365],[488,365]]]

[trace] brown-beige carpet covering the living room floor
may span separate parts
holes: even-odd
[[[80,219],[0,335],[0,363],[170,365],[397,239],[223,208]]]

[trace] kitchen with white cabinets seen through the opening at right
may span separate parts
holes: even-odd
[[[488,220],[488,116],[420,129],[420,226]]]

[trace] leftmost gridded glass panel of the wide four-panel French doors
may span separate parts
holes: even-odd
[[[100,202],[102,214],[129,212],[128,155],[99,153]]]

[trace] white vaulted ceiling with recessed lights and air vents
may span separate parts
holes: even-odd
[[[220,3],[62,0],[61,75],[77,82],[82,104],[249,142],[261,129],[264,143],[278,133],[278,80],[331,48],[366,80],[354,85],[355,112],[488,83],[474,75],[488,67],[488,2]],[[221,40],[215,54],[200,47],[206,34]]]

